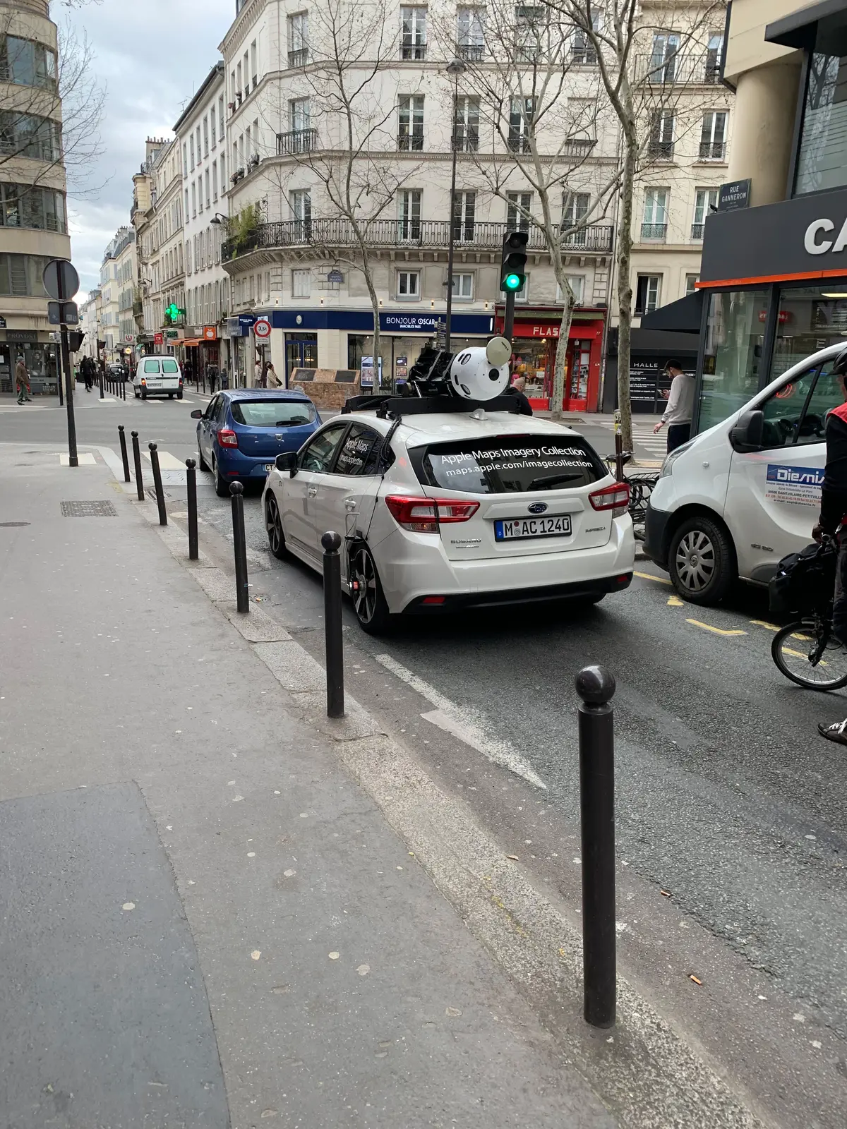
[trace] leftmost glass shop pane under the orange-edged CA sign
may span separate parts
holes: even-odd
[[[709,295],[698,430],[725,420],[759,388],[768,290]]]

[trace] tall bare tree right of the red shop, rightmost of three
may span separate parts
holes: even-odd
[[[617,233],[618,403],[623,444],[632,447],[629,367],[632,326],[632,219],[635,185],[663,159],[663,122],[679,141],[707,106],[725,105],[717,86],[718,62],[709,32],[723,27],[723,0],[699,6],[673,3],[655,9],[661,23],[644,15],[638,0],[544,0],[577,29],[590,47],[602,88],[619,126],[621,176]],[[650,9],[650,11],[654,9]],[[673,30],[669,30],[669,29]]]

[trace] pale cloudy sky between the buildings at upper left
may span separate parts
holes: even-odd
[[[54,0],[52,16],[67,18]],[[70,19],[94,47],[106,87],[104,152],[90,184],[96,199],[69,199],[71,255],[81,289],[99,283],[106,244],[130,222],[132,175],[148,137],[172,137],[174,122],[220,58],[218,44],[235,18],[235,0],[103,0]],[[81,295],[80,295],[81,297]]]

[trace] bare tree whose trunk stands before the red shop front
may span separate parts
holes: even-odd
[[[439,27],[443,51],[457,52],[465,68],[451,110],[453,145],[483,189],[512,207],[530,245],[548,251],[562,298],[551,397],[561,418],[576,304],[568,260],[592,248],[592,225],[613,203],[614,121],[599,98],[599,76],[574,52],[573,24],[559,12],[530,7],[516,17],[513,2],[494,0],[484,23],[473,9],[459,26],[447,20]],[[461,216],[453,222],[461,233]]]

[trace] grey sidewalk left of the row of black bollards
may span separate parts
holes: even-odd
[[[0,475],[0,1124],[611,1129],[298,719],[285,630],[103,464]]]

